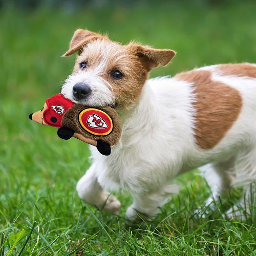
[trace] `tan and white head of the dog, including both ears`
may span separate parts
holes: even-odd
[[[88,30],[75,31],[69,50],[78,52],[74,70],[62,86],[68,99],[91,106],[129,109],[139,98],[148,73],[165,66],[172,50],[158,50],[130,42],[122,46],[107,36]]]

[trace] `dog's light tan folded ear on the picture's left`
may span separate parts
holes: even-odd
[[[80,51],[84,45],[95,39],[108,39],[106,36],[102,36],[89,30],[77,29],[70,41],[69,50],[62,55],[62,57],[70,56],[73,53]]]

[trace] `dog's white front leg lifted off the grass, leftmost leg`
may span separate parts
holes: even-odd
[[[78,181],[76,189],[78,196],[86,203],[97,208],[118,214],[120,202],[107,191],[104,191],[95,176],[95,163],[87,170],[86,174]]]

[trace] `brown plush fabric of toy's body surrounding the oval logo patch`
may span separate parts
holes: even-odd
[[[63,115],[61,124],[62,126],[66,126],[75,133],[81,134],[85,138],[92,139],[94,141],[97,140],[102,140],[105,143],[110,144],[111,146],[116,145],[121,137],[121,132],[122,132],[122,126],[119,121],[119,118],[117,116],[117,113],[114,109],[112,109],[110,106],[105,106],[103,108],[96,108],[99,110],[104,111],[106,114],[108,114],[112,118],[113,122],[113,130],[109,135],[105,136],[97,136],[97,135],[92,135],[88,133],[86,130],[83,129],[83,127],[79,124],[78,122],[78,115],[79,113],[90,107],[80,105],[80,104],[74,104],[67,112]]]

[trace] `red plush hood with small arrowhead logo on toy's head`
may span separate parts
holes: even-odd
[[[46,124],[54,127],[61,127],[61,119],[64,113],[74,104],[71,100],[64,98],[61,94],[56,94],[46,100],[47,110],[42,117]]]

